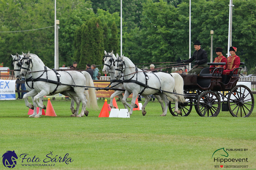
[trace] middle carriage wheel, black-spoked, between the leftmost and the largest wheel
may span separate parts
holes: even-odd
[[[204,91],[197,99],[195,110],[202,117],[216,117],[220,113],[220,97],[213,91]]]

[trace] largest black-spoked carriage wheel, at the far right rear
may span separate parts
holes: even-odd
[[[235,86],[229,92],[228,107],[230,114],[234,117],[249,117],[254,107],[251,90],[245,85]]]

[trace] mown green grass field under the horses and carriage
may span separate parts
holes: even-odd
[[[133,111],[130,118],[98,118],[100,110],[87,109],[88,117],[74,118],[69,117],[70,100],[51,102],[57,117],[28,118],[23,100],[0,101],[0,155],[2,158],[6,151],[15,151],[18,160],[13,169],[197,170],[222,169],[214,167],[220,165],[256,169],[255,109],[249,118],[233,118],[229,112],[199,117],[194,108],[188,117],[173,117],[169,110],[167,116],[160,117],[160,104],[150,102],[145,116]],[[103,104],[98,100],[100,108]],[[121,102],[117,104],[124,108]],[[224,157],[220,155],[224,151],[214,153],[220,148],[248,150],[226,151],[229,156]],[[28,154],[30,159],[22,163],[21,154]],[[66,154],[72,162],[57,161]],[[214,162],[213,154],[223,159],[248,158],[248,162]],[[35,162],[36,158],[40,162]],[[0,169],[8,169],[2,161]]]

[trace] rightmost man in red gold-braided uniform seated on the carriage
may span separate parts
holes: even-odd
[[[224,70],[222,72],[222,82],[224,84],[227,84],[227,76],[230,77],[233,76],[233,74],[237,74],[238,70],[236,69],[235,73],[233,73],[233,70],[235,68],[238,68],[240,65],[240,58],[236,55],[236,47],[230,47],[229,52],[231,56],[228,57],[226,65],[224,66]]]

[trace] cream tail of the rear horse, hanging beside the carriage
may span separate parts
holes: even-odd
[[[177,94],[184,94],[184,91],[183,91],[184,81],[183,81],[182,76],[180,76],[180,74],[178,74],[178,73],[171,73],[171,75],[173,76],[173,79],[175,82],[174,92]],[[178,97],[179,97],[179,102],[181,102],[181,103],[186,102],[184,96],[178,95]]]

